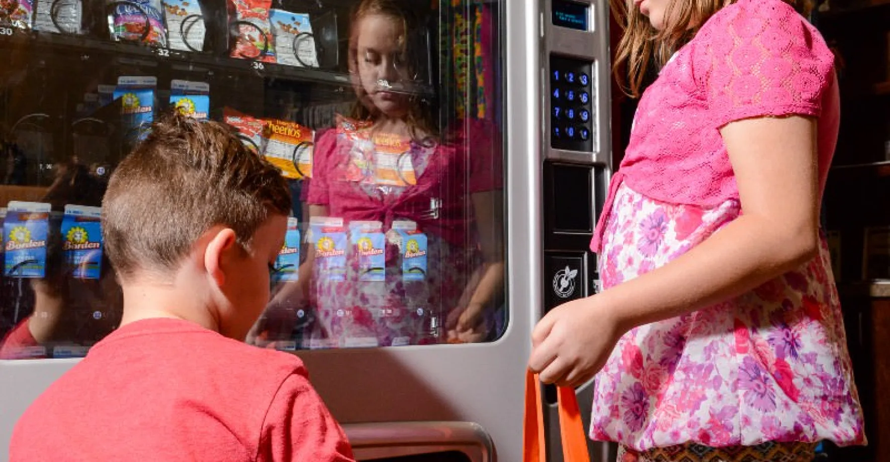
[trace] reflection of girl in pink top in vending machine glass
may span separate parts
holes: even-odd
[[[313,217],[342,218],[344,227],[375,220],[386,233],[393,221],[415,223],[428,240],[428,263],[422,281],[404,277],[405,249],[390,232],[385,280],[361,282],[352,256],[351,276],[340,283],[310,277],[315,257],[307,252],[300,279],[312,279],[303,286],[317,316],[310,336],[339,346],[481,341],[501,301],[499,142],[479,121],[440,134],[412,92],[419,61],[412,48],[426,46],[409,38],[424,30],[416,9],[364,0],[353,12],[349,68],[358,100],[352,117],[320,133],[307,202]]]

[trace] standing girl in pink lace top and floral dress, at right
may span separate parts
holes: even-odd
[[[837,142],[833,56],[782,0],[618,4],[637,96],[591,249],[605,290],[532,334],[548,383],[595,381],[621,461],[809,461],[865,442],[818,227]]]

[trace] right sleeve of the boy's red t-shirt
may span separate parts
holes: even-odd
[[[263,422],[256,460],[263,462],[352,462],[343,429],[302,375],[281,384]]]

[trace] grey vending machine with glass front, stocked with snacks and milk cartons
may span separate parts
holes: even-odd
[[[0,444],[120,323],[101,198],[180,111],[287,179],[245,341],[303,359],[356,457],[521,460],[530,332],[597,288],[606,0],[0,4]],[[578,396],[587,419],[589,384]]]

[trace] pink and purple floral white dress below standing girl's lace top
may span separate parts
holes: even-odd
[[[740,213],[618,187],[600,254],[608,289],[661,267]],[[816,259],[755,291],[630,331],[596,378],[590,436],[633,450],[696,442],[865,442],[824,239]]]

